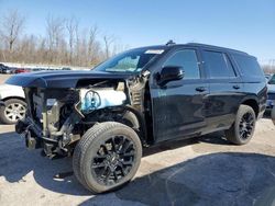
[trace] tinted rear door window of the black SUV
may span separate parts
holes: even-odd
[[[235,77],[234,69],[223,53],[204,50],[205,66],[210,78]]]

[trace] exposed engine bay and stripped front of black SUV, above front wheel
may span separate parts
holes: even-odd
[[[43,148],[51,158],[70,156],[84,133],[97,123],[120,122],[142,133],[145,83],[140,77],[131,81],[80,80],[69,89],[24,88],[29,107],[16,131],[25,136],[26,147]],[[132,114],[130,119],[127,113]]]

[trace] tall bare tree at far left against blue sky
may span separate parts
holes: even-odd
[[[12,53],[15,42],[23,32],[24,23],[25,18],[18,10],[10,11],[2,18],[0,35],[9,45],[10,53]]]

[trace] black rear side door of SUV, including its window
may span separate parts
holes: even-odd
[[[228,54],[208,49],[202,49],[201,54],[210,88],[206,104],[207,128],[215,131],[234,122],[243,98],[243,84]]]

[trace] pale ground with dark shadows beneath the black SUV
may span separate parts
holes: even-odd
[[[48,160],[29,151],[13,126],[0,125],[0,205],[243,206],[274,199],[275,126],[268,117],[246,146],[213,134],[146,149],[130,184],[98,196],[77,182],[70,158]]]

